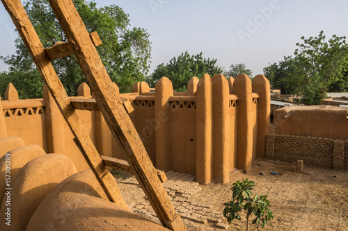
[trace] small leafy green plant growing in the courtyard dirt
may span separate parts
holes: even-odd
[[[246,230],[248,230],[248,219],[252,214],[255,215],[252,223],[256,224],[257,227],[261,224],[262,228],[267,224],[267,221],[273,219],[273,212],[269,207],[271,203],[267,200],[267,195],[257,194],[253,195],[253,187],[255,186],[254,181],[246,180],[236,180],[233,183],[232,190],[232,200],[225,203],[225,209],[223,209],[223,216],[227,218],[228,223],[232,223],[233,220],[240,220],[239,212],[242,209],[246,211]]]

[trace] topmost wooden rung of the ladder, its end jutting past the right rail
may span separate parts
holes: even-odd
[[[97,31],[94,31],[89,35],[90,40],[92,40],[95,46],[100,46],[102,44]],[[46,48],[45,52],[47,53],[49,60],[58,60],[58,58],[63,58],[74,54],[74,51],[72,51],[72,45],[69,41],[57,42],[54,44],[54,46]]]

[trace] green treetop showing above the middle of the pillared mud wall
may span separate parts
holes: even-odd
[[[163,76],[168,77],[173,83],[173,89],[184,92],[186,91],[187,82],[193,77],[202,77],[203,74],[220,74],[221,67],[216,65],[216,59],[203,58],[202,53],[198,55],[189,55],[186,51],[177,58],[172,58],[169,62],[157,66],[150,76],[148,83],[155,87],[155,83]]]

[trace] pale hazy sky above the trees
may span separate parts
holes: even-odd
[[[245,63],[253,75],[269,63],[292,55],[301,37],[324,31],[348,37],[347,0],[96,0],[116,4],[132,26],[148,30],[152,42],[150,72],[184,51],[216,58],[228,69]],[[0,55],[15,53],[13,22],[0,4]],[[0,62],[0,71],[6,70]]]

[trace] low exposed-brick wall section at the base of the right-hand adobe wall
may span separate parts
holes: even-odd
[[[333,169],[348,168],[348,141],[299,135],[267,135],[266,159]],[[273,156],[273,157],[272,157]]]

